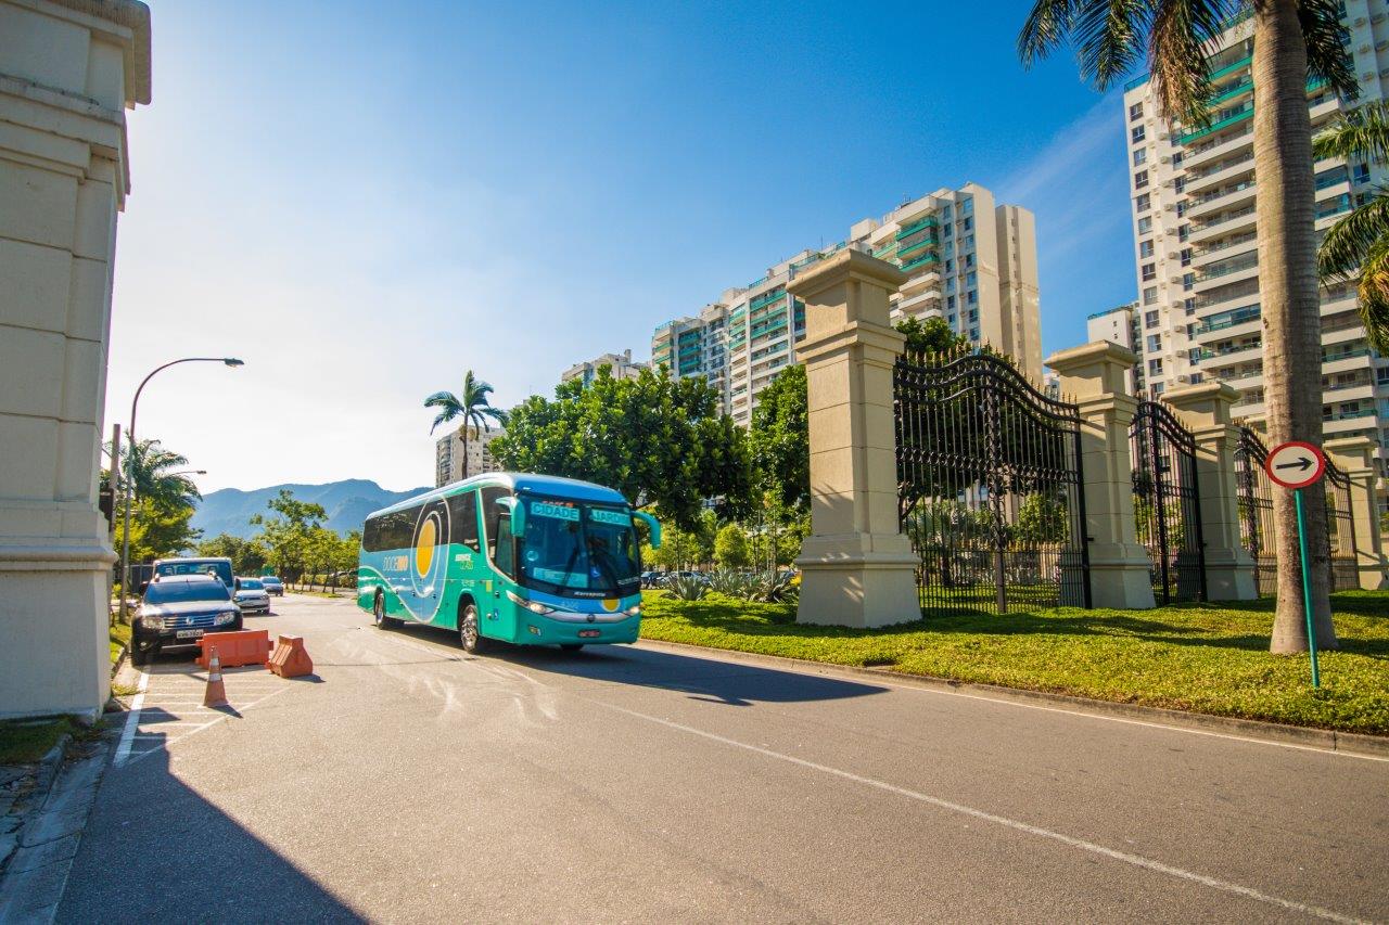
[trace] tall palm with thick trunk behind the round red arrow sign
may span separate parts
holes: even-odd
[[[1338,0],[1036,0],[1018,35],[1024,65],[1063,43],[1076,47],[1081,76],[1100,90],[1146,64],[1161,114],[1208,126],[1206,62],[1231,17],[1254,19],[1254,175],[1258,178],[1258,289],[1264,321],[1268,433],[1275,443],[1321,443],[1321,317],[1317,281],[1308,75],[1342,96],[1358,92],[1342,39]],[[1331,624],[1325,492],[1307,493],[1307,544],[1314,550],[1313,612],[1320,646],[1336,644]],[[1274,501],[1278,610],[1270,649],[1304,651],[1307,631],[1290,492]]]

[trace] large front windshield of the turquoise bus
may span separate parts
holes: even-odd
[[[519,542],[524,585],[575,597],[617,597],[640,586],[629,511],[557,499],[518,503],[526,506]]]

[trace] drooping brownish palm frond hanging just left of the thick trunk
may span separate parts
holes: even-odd
[[[1206,57],[1231,12],[1232,6],[1222,0],[1157,4],[1147,64],[1157,104],[1168,118],[1190,128],[1210,125],[1211,81]]]

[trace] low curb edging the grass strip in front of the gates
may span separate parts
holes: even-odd
[[[642,639],[639,647],[669,649],[679,653],[717,654],[729,661],[743,661],[756,665],[786,667],[795,665],[817,675],[853,675],[857,678],[872,678],[874,681],[892,681],[907,688],[922,688],[939,693],[954,693],[968,697],[982,697],[1007,703],[1021,703],[1026,706],[1045,704],[1051,710],[1076,712],[1096,717],[1118,717],[1133,722],[1147,722],[1172,729],[1189,729],[1196,732],[1210,732],[1217,735],[1265,742],[1270,744],[1292,744],[1303,749],[1320,751],[1340,751],[1358,757],[1389,760],[1389,738],[1371,736],[1357,732],[1339,732],[1336,729],[1318,729],[1314,726],[1290,726],[1281,722],[1261,722],[1258,719],[1242,719],[1238,717],[1218,717],[1208,712],[1186,712],[1182,710],[1168,710],[1165,707],[1145,707],[1132,703],[1114,703],[1113,700],[1093,700],[1075,694],[1051,693],[1047,690],[1026,690],[1024,688],[1003,688],[1000,685],[975,683],[968,681],[951,681],[933,675],[908,675],[892,668],[861,668],[858,665],[836,665],[825,661],[811,661],[808,658],[793,658],[788,656],[765,656],[761,653],[738,651],[735,649],[714,649],[711,646],[694,646],[692,643],[665,642],[663,639]]]

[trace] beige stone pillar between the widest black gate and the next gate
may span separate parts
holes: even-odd
[[[1090,597],[1096,607],[1154,606],[1151,562],[1133,525],[1128,432],[1138,399],[1125,393],[1125,374],[1136,358],[1132,350],[1097,340],[1046,361],[1061,378],[1061,393],[1081,408],[1085,529],[1090,540]]]

